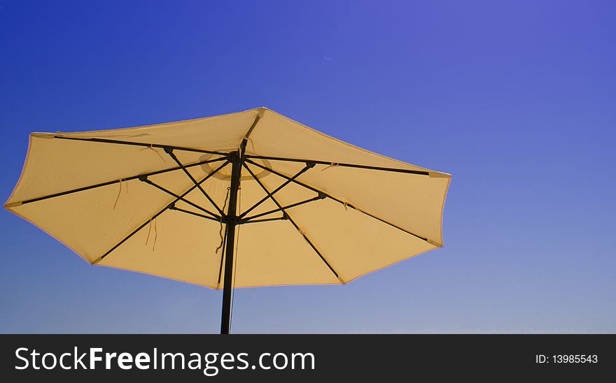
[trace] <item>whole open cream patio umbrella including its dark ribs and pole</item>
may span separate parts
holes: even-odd
[[[442,246],[451,175],[267,108],[31,133],[5,208],[92,265],[223,289],[346,284]]]

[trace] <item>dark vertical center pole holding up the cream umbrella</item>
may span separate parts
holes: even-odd
[[[241,161],[239,152],[230,154],[232,163],[231,187],[229,190],[229,209],[227,210],[227,246],[225,248],[225,280],[223,282],[223,312],[221,318],[221,334],[228,334],[231,328],[231,293],[233,280],[233,247],[235,245],[235,226],[237,226],[237,190],[241,176]]]

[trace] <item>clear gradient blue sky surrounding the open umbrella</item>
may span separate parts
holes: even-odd
[[[616,332],[613,1],[0,1],[0,194],[31,131],[267,106],[454,175],[445,247],[241,289],[236,333]],[[374,135],[377,131],[377,135]],[[0,332],[216,333],[221,293],[0,212]]]

